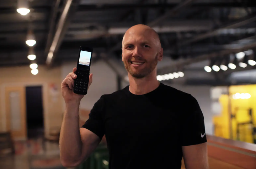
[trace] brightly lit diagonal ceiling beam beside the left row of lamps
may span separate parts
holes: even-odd
[[[80,0],[66,0],[64,10],[62,12],[62,15],[60,16],[52,44],[50,45],[50,49],[48,51],[48,56],[46,60],[47,66],[51,66],[53,63],[55,54],[58,51],[60,44],[62,43],[62,40],[68,28],[68,24],[76,11],[76,7],[78,6],[79,1]]]

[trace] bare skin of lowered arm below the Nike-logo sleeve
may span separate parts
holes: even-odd
[[[186,169],[209,169],[206,142],[182,146],[182,153]]]

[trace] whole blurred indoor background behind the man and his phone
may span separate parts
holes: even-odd
[[[1,169],[64,168],[60,84],[79,47],[93,47],[84,124],[101,95],[129,84],[121,47],[135,24],[159,33],[157,79],[198,100],[210,168],[256,168],[254,0],[0,0]],[[78,168],[108,168],[105,139]]]

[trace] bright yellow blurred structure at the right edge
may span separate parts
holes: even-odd
[[[222,112],[213,118],[215,136],[231,138],[231,118],[233,140],[255,143],[256,136],[252,133],[256,128],[256,85],[230,86],[229,96],[221,95],[219,102]]]

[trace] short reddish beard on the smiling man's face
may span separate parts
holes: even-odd
[[[145,62],[144,64],[146,64],[146,66],[143,69],[134,70],[134,68],[131,67],[130,62],[131,61],[124,61],[124,67],[126,68],[127,72],[132,75],[132,77],[141,79],[149,75],[156,68],[158,63],[158,55],[155,56],[154,60]]]

